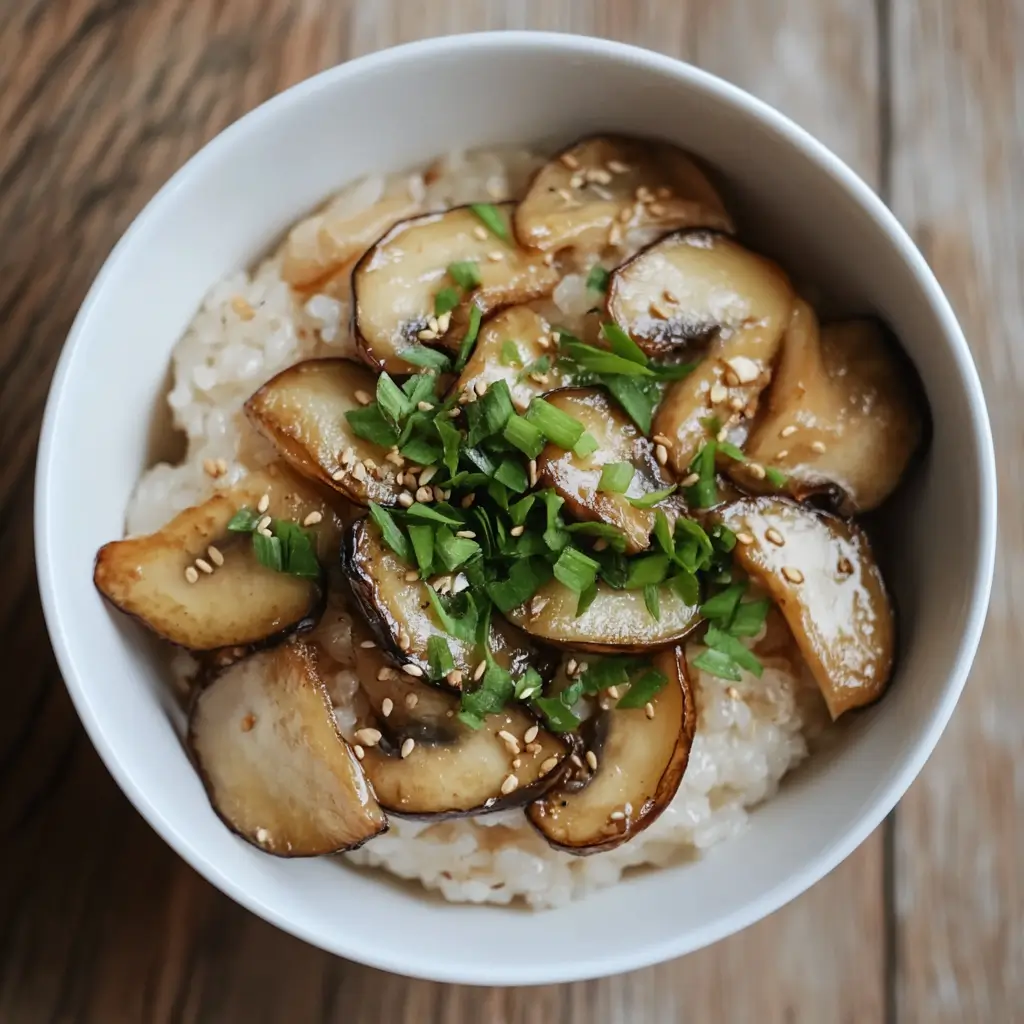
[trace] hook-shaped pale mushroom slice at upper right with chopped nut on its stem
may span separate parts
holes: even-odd
[[[687,475],[709,423],[742,445],[792,308],[774,263],[707,231],[663,239],[612,274],[608,311],[641,348],[699,359],[670,385],[652,426],[678,475]]]

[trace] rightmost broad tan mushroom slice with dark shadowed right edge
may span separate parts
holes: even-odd
[[[877,321],[819,330],[798,302],[778,366],[744,451],[774,466],[797,499],[826,493],[844,514],[878,508],[896,489],[924,433],[916,373]],[[771,481],[733,463],[748,489]]]

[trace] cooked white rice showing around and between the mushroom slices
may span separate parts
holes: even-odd
[[[327,211],[355,213],[402,190],[422,210],[514,198],[542,162],[521,151],[455,154],[421,172],[355,182]],[[309,218],[294,231],[301,237],[314,226]],[[642,241],[628,244],[635,248]],[[167,400],[187,450],[180,464],[160,464],[143,475],[127,512],[130,534],[158,529],[216,487],[273,459],[242,414],[243,402],[273,374],[311,356],[353,354],[347,273],[303,302],[283,280],[282,261],[278,252],[252,272],[239,271],[216,285],[175,346]],[[553,295],[556,321],[567,327],[591,304],[587,268],[577,269]],[[204,466],[218,459],[228,471],[214,479]],[[358,685],[350,632],[348,612],[332,601],[313,635],[337,662],[328,682],[343,731],[352,727],[348,708]],[[690,645],[691,662],[700,649]],[[189,659],[176,656],[172,668],[180,681]],[[735,836],[746,824],[748,808],[770,797],[806,756],[807,736],[823,721],[823,705],[802,667],[782,658],[768,659],[761,679],[744,673],[736,684],[691,672],[698,724],[682,784],[657,821],[618,849],[590,857],[552,850],[521,811],[439,823],[392,815],[386,835],[347,859],[419,880],[450,900],[520,898],[545,907],[612,885],[629,867],[692,857]]]

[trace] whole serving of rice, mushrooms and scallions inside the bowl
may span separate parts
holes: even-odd
[[[891,678],[855,517],[921,449],[913,370],[667,143],[348,185],[214,287],[167,401],[184,456],[96,583],[267,853],[559,905],[736,835]]]

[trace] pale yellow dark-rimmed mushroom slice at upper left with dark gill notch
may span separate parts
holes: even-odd
[[[372,367],[411,373],[417,368],[403,352],[423,344],[458,349],[470,302],[463,301],[451,315],[435,314],[438,292],[456,287],[449,272],[454,263],[475,264],[480,284],[470,301],[484,315],[547,295],[558,284],[554,267],[511,240],[513,205],[490,208],[509,241],[488,231],[469,207],[458,207],[396,224],[359,260],[352,273],[355,333]]]

